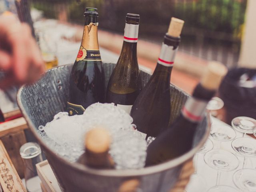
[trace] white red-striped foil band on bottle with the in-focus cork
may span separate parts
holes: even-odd
[[[174,64],[174,58],[176,56],[177,50],[178,48],[174,49],[173,46],[168,46],[163,43],[157,62],[163,66],[172,67]]]

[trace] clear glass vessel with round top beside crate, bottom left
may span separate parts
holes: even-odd
[[[21,146],[20,156],[24,162],[24,175],[28,192],[41,192],[40,179],[36,172],[36,164],[41,162],[41,148],[37,143],[28,142]]]

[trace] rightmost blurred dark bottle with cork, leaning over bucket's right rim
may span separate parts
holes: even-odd
[[[174,124],[162,132],[147,149],[146,166],[176,158],[192,148],[194,134],[205,114],[205,109],[214,96],[227,68],[210,62],[192,97],[186,100],[180,116]]]

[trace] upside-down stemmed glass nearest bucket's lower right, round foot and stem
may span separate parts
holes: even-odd
[[[215,149],[208,151],[204,155],[204,162],[211,168],[218,170],[216,185],[210,188],[208,192],[227,191],[225,188],[228,188],[228,186],[220,185],[221,171],[235,170],[239,165],[238,158],[228,151]]]

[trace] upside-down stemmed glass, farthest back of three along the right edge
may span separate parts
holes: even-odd
[[[253,133],[253,130],[256,128],[256,120],[250,117],[240,116],[234,118],[231,125],[235,130],[244,133],[244,137],[246,133]]]

